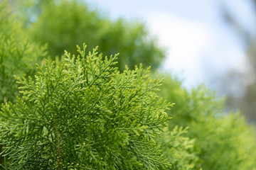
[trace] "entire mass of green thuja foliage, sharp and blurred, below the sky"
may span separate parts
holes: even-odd
[[[135,66],[164,57],[142,24],[22,2],[21,18],[0,3],[0,169],[255,170],[255,128],[223,99]]]

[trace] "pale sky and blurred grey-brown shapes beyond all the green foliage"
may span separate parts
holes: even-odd
[[[186,88],[206,84],[227,97],[227,111],[256,120],[255,5],[253,0],[87,0],[112,20],[146,24],[166,49],[161,72]]]

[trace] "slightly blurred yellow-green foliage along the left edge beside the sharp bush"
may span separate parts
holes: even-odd
[[[18,94],[14,75],[35,74],[36,62],[46,56],[45,47],[31,43],[23,34],[9,6],[0,4],[0,103],[14,102]]]

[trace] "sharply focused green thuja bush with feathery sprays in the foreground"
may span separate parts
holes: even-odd
[[[0,112],[5,169],[159,169],[168,166],[154,142],[171,104],[158,99],[161,80],[137,67],[119,73],[117,56],[97,51],[60,66],[45,62],[36,79],[17,78],[23,97]]]

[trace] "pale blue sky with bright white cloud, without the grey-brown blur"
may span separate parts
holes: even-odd
[[[112,19],[145,21],[168,49],[161,70],[178,74],[185,86],[210,84],[209,77],[228,69],[247,72],[242,40],[225,23],[225,6],[248,29],[255,29],[250,0],[87,0]],[[120,54],[122,55],[122,54]]]

